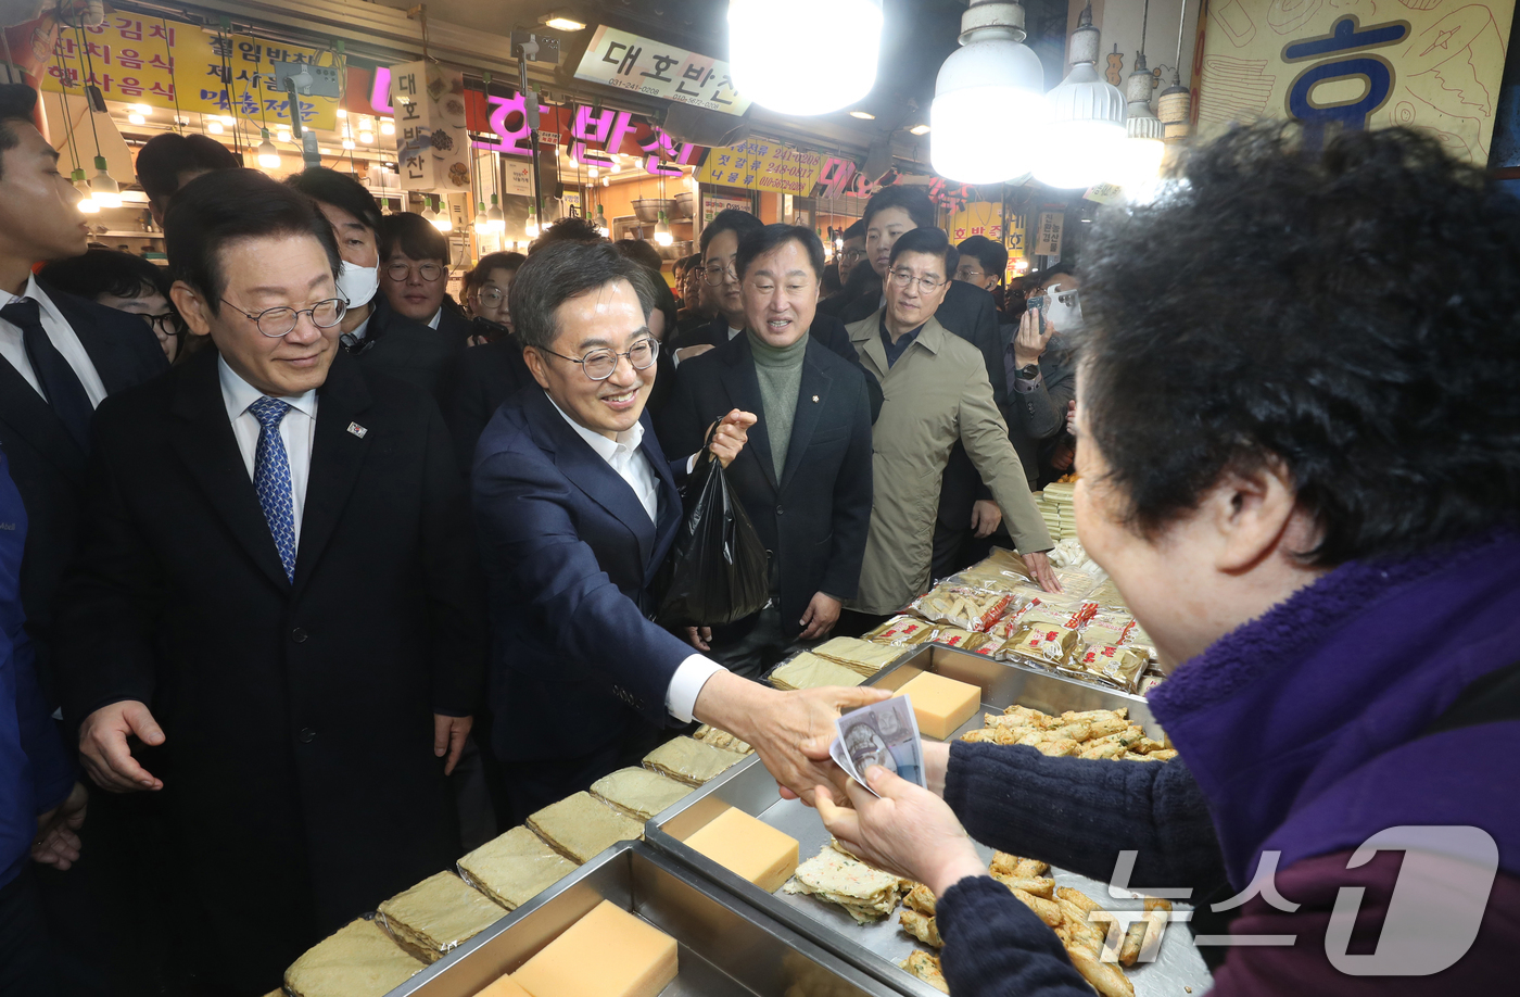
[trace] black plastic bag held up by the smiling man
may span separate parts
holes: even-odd
[[[655,614],[661,626],[722,626],[771,599],[771,553],[707,445],[687,482],[686,520],[664,565],[666,594]]]

